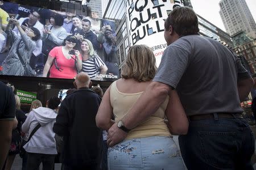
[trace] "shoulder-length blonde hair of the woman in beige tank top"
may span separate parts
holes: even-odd
[[[146,45],[134,45],[128,50],[122,69],[122,78],[134,78],[146,82],[154,78],[156,73],[155,56]]]

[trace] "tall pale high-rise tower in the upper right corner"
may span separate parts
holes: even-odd
[[[256,39],[256,24],[245,0],[221,0],[220,16],[230,36],[245,31]]]

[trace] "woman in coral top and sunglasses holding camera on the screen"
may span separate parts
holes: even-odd
[[[73,35],[67,36],[64,46],[56,46],[48,55],[44,65],[43,77],[73,79],[77,75],[77,57],[75,56],[75,46],[77,38]]]

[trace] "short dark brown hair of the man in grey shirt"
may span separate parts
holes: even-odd
[[[199,32],[196,13],[189,7],[175,7],[168,15],[164,28],[170,25],[179,36],[195,35]]]

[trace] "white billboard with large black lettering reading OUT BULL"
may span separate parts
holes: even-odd
[[[159,66],[163,51],[167,48],[164,40],[164,19],[173,8],[184,6],[183,0],[127,0],[125,2],[131,46],[135,44],[149,46],[155,54],[156,65]]]

